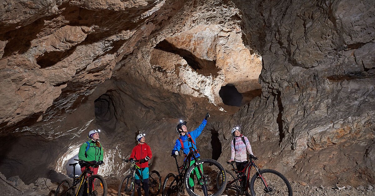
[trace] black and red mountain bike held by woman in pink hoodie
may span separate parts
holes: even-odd
[[[233,162],[226,162],[231,164],[233,170],[236,172],[236,176],[233,175],[230,171],[226,170],[228,173],[228,183],[226,184],[226,188],[224,190],[224,194],[228,196],[239,196],[245,194],[246,196],[260,196],[260,195],[273,195],[273,196],[292,196],[293,191],[292,187],[280,172],[272,170],[272,169],[262,169],[260,170],[257,164],[255,164],[254,160],[258,160],[257,157],[254,155],[249,155],[249,163],[246,164],[245,168],[242,171],[236,171],[234,168],[234,161]],[[251,167],[254,166],[257,172],[252,176],[251,181],[250,179],[250,170]],[[248,173],[246,175],[246,169],[248,169]],[[246,176],[246,182],[243,182],[243,176]],[[217,183],[221,181],[221,177],[217,176]],[[244,186],[245,185],[245,186]],[[251,194],[249,194],[249,191]]]

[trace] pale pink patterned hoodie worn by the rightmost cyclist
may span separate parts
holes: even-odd
[[[244,137],[245,143],[243,143],[242,138]],[[235,137],[236,139],[236,145],[233,145],[233,140],[231,142],[231,159],[236,161],[236,162],[243,162],[248,160],[248,155],[246,154],[249,152],[250,154],[253,154],[253,151],[251,151],[251,145],[247,137],[243,136],[242,134],[240,137]]]

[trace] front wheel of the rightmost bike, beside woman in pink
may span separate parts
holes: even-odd
[[[250,190],[252,196],[277,195],[292,196],[292,187],[280,172],[272,169],[263,169],[251,178]]]

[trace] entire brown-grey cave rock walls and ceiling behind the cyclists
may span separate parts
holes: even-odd
[[[202,157],[225,164],[240,126],[258,164],[290,181],[374,183],[374,12],[371,0],[6,0],[0,172],[59,181],[98,128],[105,177],[124,175],[139,133],[151,169],[175,172],[175,126],[209,111]]]

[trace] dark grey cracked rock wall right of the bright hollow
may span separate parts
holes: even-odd
[[[236,5],[263,60],[261,98],[236,114],[254,153],[312,184],[374,182],[374,2]]]

